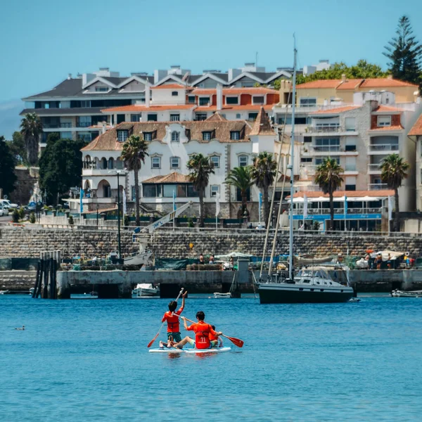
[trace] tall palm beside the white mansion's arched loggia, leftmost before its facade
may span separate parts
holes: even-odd
[[[123,144],[123,151],[120,155],[128,170],[133,170],[135,174],[135,208],[136,208],[136,226],[139,226],[139,170],[141,162],[145,163],[148,151],[148,144],[139,136],[129,136]],[[117,186],[119,188],[119,186]]]

